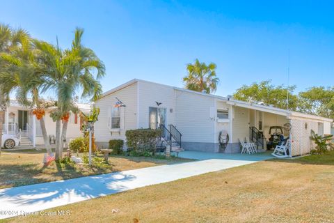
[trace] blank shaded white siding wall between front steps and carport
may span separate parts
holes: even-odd
[[[215,121],[210,118],[214,98],[176,91],[176,127],[182,141],[213,143]]]

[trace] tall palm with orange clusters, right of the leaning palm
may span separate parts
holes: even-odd
[[[83,29],[76,29],[72,47],[65,50],[49,43],[35,42],[42,51],[45,67],[49,68],[50,78],[45,91],[52,89],[58,96],[58,109],[52,114],[56,121],[56,159],[63,155],[68,116],[70,112],[75,112],[74,95],[81,91],[81,98],[95,100],[102,93],[98,80],[105,74],[104,64],[92,49],[81,45],[83,33]]]

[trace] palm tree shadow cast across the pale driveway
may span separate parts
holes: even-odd
[[[127,183],[136,177],[121,173],[86,176],[49,183],[11,187],[0,190],[0,201],[17,203],[19,206],[37,204],[42,206],[54,199],[63,200],[63,204],[82,201],[106,194],[128,190]],[[44,208],[43,208],[44,209]]]

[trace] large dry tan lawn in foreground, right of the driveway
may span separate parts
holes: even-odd
[[[6,221],[334,222],[333,157],[257,162],[51,209],[70,216]]]

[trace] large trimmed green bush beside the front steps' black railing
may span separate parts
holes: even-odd
[[[132,148],[132,154],[154,155],[157,138],[161,136],[161,130],[138,129],[127,130],[127,147]]]

